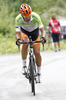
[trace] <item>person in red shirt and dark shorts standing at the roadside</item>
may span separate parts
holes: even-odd
[[[61,48],[60,48],[60,30],[59,30],[59,28],[61,29],[61,33],[62,33],[62,36],[63,36],[63,30],[62,30],[62,27],[61,27],[59,21],[56,19],[56,15],[52,14],[51,20],[49,22],[48,36],[49,36],[49,33],[50,33],[50,29],[51,29],[52,39],[53,39],[54,47],[55,47],[55,52],[57,52],[56,42],[58,43],[58,48],[59,48],[58,50],[59,51],[61,50]]]

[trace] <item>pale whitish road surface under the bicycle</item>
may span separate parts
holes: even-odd
[[[21,55],[0,56],[0,100],[66,100],[66,51],[41,55],[41,83],[36,84],[35,96],[21,73]]]

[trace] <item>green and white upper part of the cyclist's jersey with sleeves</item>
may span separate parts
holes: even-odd
[[[24,30],[31,32],[37,29],[38,27],[42,28],[43,24],[40,19],[40,16],[37,13],[32,12],[31,20],[29,23],[26,23],[23,17],[21,16],[21,14],[19,14],[15,19],[15,27],[16,27],[16,31],[20,31],[20,27],[22,27]]]

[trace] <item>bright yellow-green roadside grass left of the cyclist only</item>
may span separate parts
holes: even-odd
[[[18,53],[15,38],[0,38],[0,55]]]

